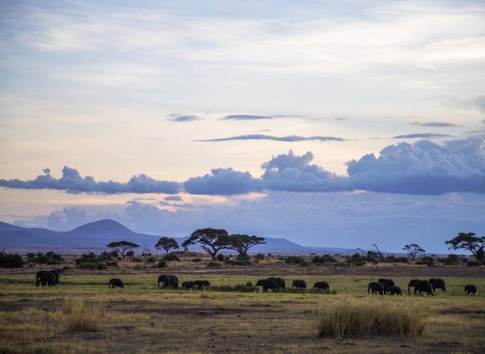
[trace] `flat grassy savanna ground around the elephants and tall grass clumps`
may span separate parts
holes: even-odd
[[[211,270],[184,263],[164,270],[68,270],[53,288],[34,287],[35,273],[28,271],[0,273],[0,353],[485,353],[485,297],[463,290],[472,283],[485,291],[483,267],[268,262]],[[178,275],[180,283],[205,279],[212,285],[255,283],[272,275],[285,278],[287,286],[295,278],[310,286],[327,280],[337,294],[158,290],[160,273]],[[393,278],[403,292],[410,278],[439,276],[447,291],[434,297],[367,295],[367,284],[382,276]],[[123,279],[124,289],[108,289],[114,277]],[[344,298],[412,305],[426,313],[424,335],[318,337],[316,312]],[[96,331],[69,329],[72,315],[64,306],[69,299],[98,309],[92,315],[99,318]]]

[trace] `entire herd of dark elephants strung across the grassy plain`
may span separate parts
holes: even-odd
[[[54,269],[54,270],[39,270],[36,273],[36,286],[53,286],[59,285],[59,279],[61,269]],[[163,288],[173,288],[178,289],[178,278],[176,275],[160,275],[158,277],[158,288],[160,288],[160,283]],[[265,279],[257,280],[255,286],[253,287],[252,283],[249,281],[246,283],[246,286],[251,288],[256,288],[257,286],[262,287],[262,292],[267,293],[268,290],[272,292],[275,291],[284,291],[285,290],[285,279],[283,278],[276,278],[276,277],[269,277]],[[124,288],[123,280],[119,278],[112,278],[108,282],[108,288]],[[210,288],[210,281],[208,280],[188,280],[182,283],[181,288],[184,290],[204,290]],[[296,279],[292,282],[292,288],[295,289],[306,289],[307,282],[305,280]],[[429,280],[419,280],[419,279],[412,279],[409,280],[407,285],[407,293],[411,296],[411,288],[414,288],[414,295],[423,295],[423,293],[427,293],[427,295],[434,295],[436,289],[441,289],[441,292],[446,292],[446,284],[444,283],[443,279],[440,278],[431,278]],[[313,284],[313,290],[330,290],[330,285],[326,281],[317,281]],[[478,295],[479,292],[475,285],[468,284],[465,285],[464,291],[467,295]],[[367,293],[372,293],[372,295],[402,295],[401,288],[396,286],[394,280],[392,279],[385,279],[380,278],[377,282],[372,281],[367,286]]]

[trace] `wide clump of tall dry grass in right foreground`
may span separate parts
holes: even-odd
[[[373,299],[374,300],[374,299]],[[335,338],[368,335],[422,335],[424,311],[407,303],[378,302],[346,298],[327,305],[317,313],[321,336]]]

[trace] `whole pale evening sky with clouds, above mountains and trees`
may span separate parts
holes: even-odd
[[[0,221],[485,235],[483,1],[1,1]]]

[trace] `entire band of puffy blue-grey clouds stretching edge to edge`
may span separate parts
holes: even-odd
[[[429,140],[387,146],[379,156],[369,153],[347,162],[348,176],[339,176],[312,164],[313,153],[297,156],[293,151],[262,163],[262,176],[233,168],[213,168],[204,176],[183,183],[158,181],[144,174],[128,182],[95,181],[82,177],[65,166],[61,178],[54,178],[48,168],[34,180],[0,180],[6,188],[56,189],[68,193],[168,193],[178,189],[190,194],[222,195],[260,191],[332,192],[374,191],[437,195],[451,192],[485,193],[485,136],[445,141]]]

